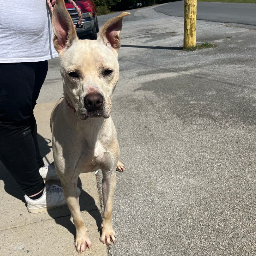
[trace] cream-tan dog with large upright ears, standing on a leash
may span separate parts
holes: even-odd
[[[111,98],[119,78],[117,51],[124,12],[108,21],[98,40],[78,40],[64,0],[52,14],[54,47],[58,51],[64,98],[52,111],[51,130],[54,164],[76,227],[76,250],[91,247],[79,208],[76,190],[80,173],[102,170],[104,212],[101,242],[115,242],[112,204],[119,161],[116,129],[111,119]]]

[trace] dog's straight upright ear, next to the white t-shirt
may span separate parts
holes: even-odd
[[[58,53],[78,40],[73,21],[65,7],[64,0],[57,0],[52,12],[53,44]]]

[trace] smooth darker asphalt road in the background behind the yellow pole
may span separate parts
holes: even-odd
[[[155,10],[166,15],[183,17],[184,1],[167,3],[156,7]],[[255,3],[197,2],[198,20],[256,25],[255,15]]]

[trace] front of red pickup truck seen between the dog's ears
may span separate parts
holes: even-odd
[[[93,0],[74,0],[77,6],[80,8],[82,13],[82,25],[83,28],[76,28],[76,34],[79,39],[88,38],[96,40],[97,32],[99,32],[99,25],[97,20],[97,10],[96,5]],[[65,6],[74,22],[78,22],[78,14],[74,6],[68,1],[65,0]]]

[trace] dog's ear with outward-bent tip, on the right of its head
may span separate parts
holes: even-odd
[[[121,46],[119,33],[122,30],[123,17],[130,14],[130,12],[123,12],[119,16],[107,21],[101,28],[99,40],[102,40],[105,45],[110,45],[118,51]]]

